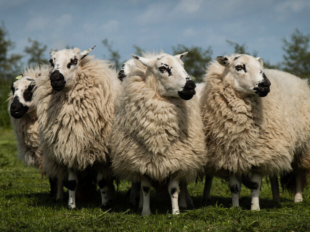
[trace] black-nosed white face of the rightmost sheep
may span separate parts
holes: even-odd
[[[260,57],[250,55],[217,56],[217,62],[225,67],[225,78],[232,78],[234,88],[240,94],[256,94],[265,97],[270,92],[270,81],[263,72]]]

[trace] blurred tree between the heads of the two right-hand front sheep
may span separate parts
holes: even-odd
[[[172,46],[172,50],[174,55],[188,51],[188,55],[183,58],[184,69],[192,76],[195,82],[201,82],[205,68],[212,59],[213,51],[211,47],[203,49],[199,46],[186,47],[185,45],[178,44],[176,47]]]

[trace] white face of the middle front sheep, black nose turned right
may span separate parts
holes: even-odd
[[[154,59],[132,55],[147,67],[149,71],[158,80],[157,91],[161,96],[180,97],[189,100],[195,94],[195,83],[190,79],[183,68],[181,58],[185,57],[187,52],[178,55],[160,54]]]

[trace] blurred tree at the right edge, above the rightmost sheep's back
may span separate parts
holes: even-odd
[[[296,29],[290,39],[283,38],[283,70],[301,78],[310,78],[310,34],[304,35]]]

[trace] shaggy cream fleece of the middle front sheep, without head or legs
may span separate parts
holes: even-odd
[[[161,97],[152,76],[130,76],[116,98],[111,162],[116,175],[139,181],[191,181],[205,164],[197,98]]]

